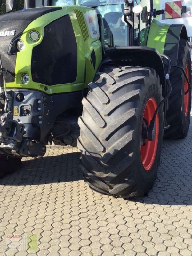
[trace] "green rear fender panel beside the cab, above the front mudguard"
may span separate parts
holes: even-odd
[[[155,48],[160,54],[163,54],[169,26],[168,24],[153,19],[149,28],[146,46]]]

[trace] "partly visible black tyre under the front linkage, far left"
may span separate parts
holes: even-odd
[[[0,178],[3,178],[7,174],[15,172],[21,165],[20,157],[13,157],[7,155],[0,155]]]

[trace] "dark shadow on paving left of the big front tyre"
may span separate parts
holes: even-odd
[[[54,154],[54,151],[53,151]],[[82,180],[80,153],[28,158],[18,170],[0,180],[0,185],[35,185]]]

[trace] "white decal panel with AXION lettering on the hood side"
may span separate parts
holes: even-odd
[[[93,39],[99,39],[99,25],[97,19],[97,13],[95,10],[90,10],[85,13],[85,20],[87,22],[89,32]]]

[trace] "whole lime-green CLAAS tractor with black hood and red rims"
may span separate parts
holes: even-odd
[[[1,173],[77,146],[92,189],[141,198],[163,137],[189,129],[186,28],[160,23],[152,0],[74,1],[7,0],[0,16]]]

